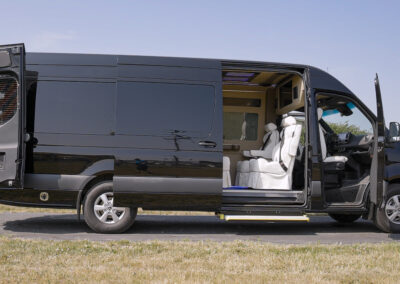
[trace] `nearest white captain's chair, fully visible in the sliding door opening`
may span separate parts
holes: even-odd
[[[292,172],[301,136],[301,125],[288,116],[282,120],[281,142],[273,150],[273,160],[250,160],[249,185],[255,189],[292,188]]]

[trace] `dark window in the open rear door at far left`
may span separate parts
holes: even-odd
[[[18,83],[13,78],[0,78],[0,125],[9,121],[17,111]]]

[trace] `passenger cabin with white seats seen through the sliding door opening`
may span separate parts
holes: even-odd
[[[276,202],[303,203],[302,77],[288,72],[223,70],[222,80],[224,197],[265,196],[271,201],[274,193],[281,192]]]

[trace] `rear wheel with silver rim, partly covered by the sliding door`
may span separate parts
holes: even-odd
[[[83,202],[85,222],[97,233],[113,234],[128,230],[135,222],[137,208],[113,207],[113,183],[94,185]]]

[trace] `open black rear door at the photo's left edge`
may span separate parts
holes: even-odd
[[[25,47],[0,46],[0,187],[23,188]]]

